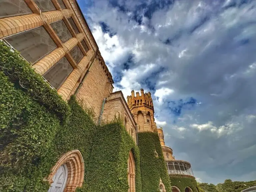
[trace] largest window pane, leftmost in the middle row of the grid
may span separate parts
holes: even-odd
[[[43,27],[13,35],[6,40],[31,63],[35,63],[57,47]]]

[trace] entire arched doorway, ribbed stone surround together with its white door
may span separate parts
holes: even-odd
[[[48,176],[50,188],[48,192],[75,192],[82,187],[84,181],[84,161],[79,150],[63,154],[52,167]]]

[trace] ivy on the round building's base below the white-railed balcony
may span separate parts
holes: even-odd
[[[170,180],[171,186],[178,187],[181,192],[184,192],[186,187],[190,187],[193,192],[199,191],[197,182],[193,177],[177,177],[170,175]]]

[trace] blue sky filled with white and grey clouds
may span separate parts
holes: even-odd
[[[256,179],[256,0],[77,0],[114,91],[151,92],[199,182]]]

